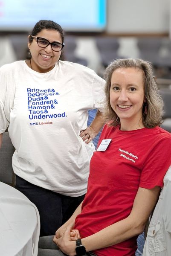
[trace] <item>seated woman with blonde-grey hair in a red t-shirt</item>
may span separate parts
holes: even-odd
[[[53,238],[70,256],[135,256],[171,164],[171,134],[159,127],[163,103],[151,64],[118,59],[105,79],[107,124],[90,161],[87,194]],[[49,255],[49,239],[40,239],[38,255]],[[50,255],[64,255],[60,250]]]

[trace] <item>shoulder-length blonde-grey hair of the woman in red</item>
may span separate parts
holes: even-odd
[[[142,122],[146,128],[154,128],[162,123],[163,114],[163,101],[160,96],[157,83],[154,80],[152,65],[143,61],[142,59],[117,59],[113,61],[105,70],[104,79],[106,80],[105,86],[105,111],[104,118],[110,126],[116,126],[120,124],[119,116],[113,111],[110,105],[110,85],[111,76],[116,69],[119,68],[134,68],[141,70],[144,78],[144,93],[146,99],[147,113],[145,114],[145,103],[142,108]]]

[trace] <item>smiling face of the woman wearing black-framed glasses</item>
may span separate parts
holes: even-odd
[[[54,41],[62,43],[61,35],[57,30],[42,29],[36,36],[45,38],[50,43]],[[55,66],[55,62],[59,60],[61,55],[61,51],[53,51],[50,44],[46,48],[38,46],[36,38],[33,38],[32,43],[28,43],[28,47],[32,55],[32,69],[40,73],[46,73],[52,70]]]

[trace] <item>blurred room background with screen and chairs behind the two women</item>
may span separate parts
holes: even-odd
[[[103,77],[116,58],[142,58],[154,67],[165,104],[162,127],[171,132],[171,0],[0,0],[0,66],[27,58],[28,35],[38,20],[54,20],[65,32],[64,60],[77,62]],[[96,111],[89,112],[88,125]],[[95,146],[99,136],[94,140]],[[14,148],[3,143],[3,162],[10,163]],[[6,152],[10,151],[10,155]],[[5,156],[6,155],[6,156]],[[4,161],[9,157],[8,161]],[[144,234],[136,256],[142,256]]]

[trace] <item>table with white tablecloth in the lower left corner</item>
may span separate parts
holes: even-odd
[[[0,182],[0,256],[37,256],[38,209],[17,189]]]

